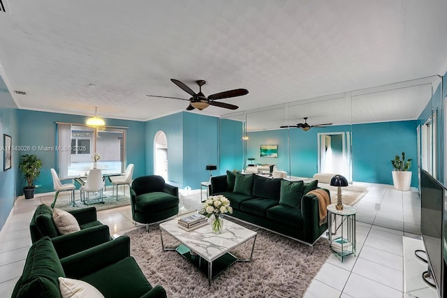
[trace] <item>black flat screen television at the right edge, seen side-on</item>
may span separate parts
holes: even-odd
[[[430,173],[420,173],[420,232],[428,259],[428,274],[444,297],[444,200],[446,188]]]

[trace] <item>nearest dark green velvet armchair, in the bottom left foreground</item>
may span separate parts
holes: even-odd
[[[11,297],[61,297],[59,277],[85,281],[106,298],[166,297],[160,285],[150,285],[130,256],[127,236],[62,259],[50,237],[43,237],[29,248],[22,276]]]

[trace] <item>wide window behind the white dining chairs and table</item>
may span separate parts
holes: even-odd
[[[124,128],[91,128],[82,124],[58,124],[57,148],[59,177],[85,175],[92,167],[95,153],[101,156],[96,163],[103,174],[124,172],[126,130]]]

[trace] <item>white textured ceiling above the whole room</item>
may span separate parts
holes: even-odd
[[[416,119],[430,99],[432,76],[447,70],[444,0],[3,4],[0,74],[10,91],[27,92],[12,94],[20,109],[91,115],[97,106],[101,117],[146,121],[186,108],[186,101],[146,96],[189,98],[170,82],[175,78],[194,91],[195,80],[206,80],[205,95],[248,89],[221,100],[242,111],[343,94],[352,98],[352,121]],[[415,89],[377,91],[405,81]],[[369,87],[377,88],[363,94]],[[295,109],[291,119],[346,123],[346,115],[334,114],[320,103],[306,113]]]

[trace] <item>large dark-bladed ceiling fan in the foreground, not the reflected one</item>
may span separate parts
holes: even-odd
[[[216,107],[224,107],[224,108],[230,109],[230,110],[236,110],[238,108],[237,105],[231,105],[230,103],[221,103],[221,102],[215,101],[215,100],[219,100],[222,98],[242,96],[242,95],[249,93],[249,91],[247,89],[234,89],[234,90],[219,92],[217,94],[212,94],[212,95],[206,97],[202,93],[202,86],[205,84],[205,80],[197,80],[196,81],[196,83],[198,84],[198,87],[199,87],[199,91],[197,94],[194,91],[192,91],[191,88],[186,86],[186,84],[184,84],[183,82],[180,82],[179,80],[175,80],[175,79],[170,79],[170,80],[171,80],[171,82],[176,84],[178,87],[180,87],[180,89],[182,89],[183,91],[185,91],[187,94],[191,95],[192,97],[189,99],[184,99],[184,98],[170,97],[170,96],[156,96],[156,95],[147,95],[147,96],[189,100],[189,105],[188,105],[188,107],[186,107],[186,110],[189,110],[189,111],[194,110],[194,109],[203,110],[206,107],[208,107],[209,105],[214,105]]]

